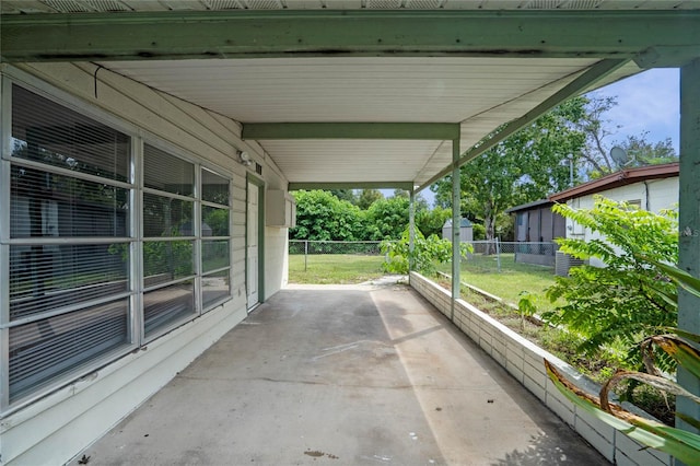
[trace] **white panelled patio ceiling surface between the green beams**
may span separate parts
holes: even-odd
[[[2,13],[231,9],[700,9],[677,0],[2,0]],[[592,32],[594,34],[594,32]],[[460,152],[598,60],[310,57],[105,61],[105,68],[238,123],[458,123]],[[640,70],[630,65],[607,82]],[[259,141],[290,183],[413,182],[452,161],[450,141]]]

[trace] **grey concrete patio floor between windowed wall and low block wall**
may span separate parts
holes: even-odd
[[[608,464],[422,296],[386,283],[280,291],[83,453],[91,465]]]

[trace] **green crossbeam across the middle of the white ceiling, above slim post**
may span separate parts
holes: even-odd
[[[248,123],[243,139],[396,139],[448,140],[459,136],[458,123]]]

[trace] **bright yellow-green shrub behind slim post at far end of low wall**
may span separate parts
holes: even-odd
[[[420,231],[416,231],[413,240],[412,252],[409,248],[408,230],[404,232],[399,241],[384,241],[382,243],[382,253],[387,257],[387,261],[383,266],[385,271],[408,273],[409,261],[411,261],[413,270],[427,276],[434,276],[438,264],[452,260],[452,242],[450,240],[441,240],[434,234],[424,237]],[[468,243],[462,243],[459,249],[463,257],[474,251]]]

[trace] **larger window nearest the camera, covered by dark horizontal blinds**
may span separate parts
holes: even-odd
[[[3,407],[132,342],[130,137],[19,85],[11,101]]]

